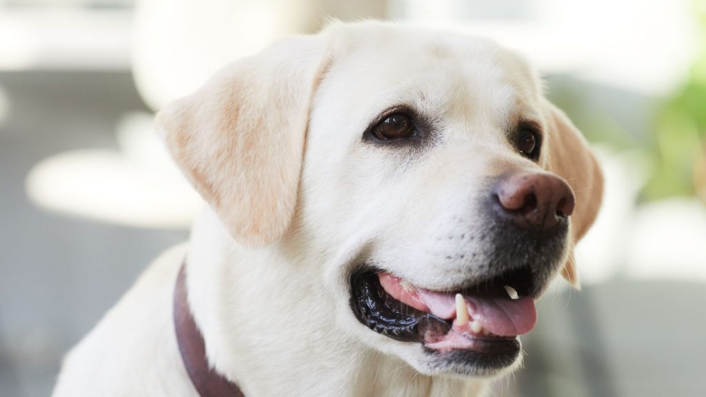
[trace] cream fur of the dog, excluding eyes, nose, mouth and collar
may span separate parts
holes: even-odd
[[[436,120],[436,145],[361,139],[400,104]],[[544,131],[539,164],[506,138],[528,117]],[[445,237],[483,227],[477,198],[504,172],[566,178],[575,240],[602,194],[585,141],[525,61],[450,32],[332,23],[237,61],[157,119],[210,208],[189,244],[160,256],[69,353],[56,397],[196,395],[172,329],[184,256],[208,360],[246,396],[479,396],[519,360],[479,377],[434,367],[418,343],[359,324],[349,271],[374,259],[421,287],[459,285],[468,265],[457,254],[483,242]],[[575,272],[571,263],[563,274],[578,285]]]

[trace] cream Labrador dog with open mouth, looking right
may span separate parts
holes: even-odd
[[[192,360],[244,396],[481,396],[520,366],[549,282],[578,287],[602,197],[537,73],[454,32],[333,21],[157,129],[208,208],[71,350],[56,397],[206,396]]]

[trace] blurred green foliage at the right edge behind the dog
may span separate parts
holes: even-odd
[[[642,153],[640,157],[649,167],[640,201],[697,196],[706,203],[706,0],[694,0],[693,4],[698,18],[698,53],[688,76],[671,95],[655,99],[616,89],[605,100],[605,90],[611,88],[604,87],[602,100],[590,100],[588,86],[565,81],[562,76],[551,78],[551,100],[566,109],[589,141]],[[642,112],[630,115],[630,104],[635,103],[642,112],[652,109],[654,117],[645,122]],[[614,119],[611,107],[621,107],[615,114],[628,117]],[[635,171],[635,177],[643,177]]]

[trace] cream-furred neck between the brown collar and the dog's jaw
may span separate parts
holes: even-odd
[[[191,239],[189,304],[206,355],[246,396],[477,396],[484,388],[421,375],[339,329],[321,271],[305,257],[239,247],[210,211]]]

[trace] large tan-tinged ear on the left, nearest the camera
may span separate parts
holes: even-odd
[[[326,32],[289,37],[157,114],[177,165],[242,244],[273,242],[292,220],[328,41]]]

